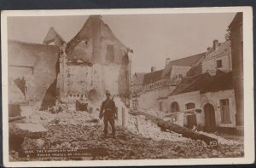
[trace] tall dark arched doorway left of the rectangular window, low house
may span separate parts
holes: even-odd
[[[216,122],[215,122],[215,111],[212,104],[207,103],[204,106],[205,112],[205,128],[206,131],[212,132],[216,129]]]

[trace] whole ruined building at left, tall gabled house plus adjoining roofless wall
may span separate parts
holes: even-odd
[[[12,105],[31,111],[77,100],[99,105],[110,90],[117,105],[129,107],[132,50],[99,15],[89,16],[68,43],[50,28],[43,44],[9,41],[8,54]]]

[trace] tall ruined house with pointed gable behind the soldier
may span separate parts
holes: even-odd
[[[60,101],[89,99],[99,103],[110,90],[129,105],[131,49],[113,35],[101,16],[89,16],[62,50],[57,80]]]

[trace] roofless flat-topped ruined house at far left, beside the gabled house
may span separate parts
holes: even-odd
[[[55,82],[58,57],[56,46],[8,41],[9,114],[32,113],[53,98],[46,92]]]

